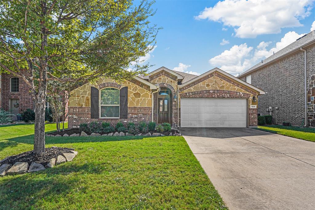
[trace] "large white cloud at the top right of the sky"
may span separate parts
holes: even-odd
[[[302,26],[301,19],[310,14],[313,0],[224,0],[205,8],[196,19],[208,19],[234,27],[235,36],[255,38],[276,34],[281,28]]]

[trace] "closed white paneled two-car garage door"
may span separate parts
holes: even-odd
[[[246,127],[247,99],[182,98],[181,127]]]

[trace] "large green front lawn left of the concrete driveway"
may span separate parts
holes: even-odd
[[[33,133],[34,125],[0,126],[0,159],[32,150]],[[0,177],[0,209],[226,209],[183,137],[47,137],[46,146],[79,153]]]

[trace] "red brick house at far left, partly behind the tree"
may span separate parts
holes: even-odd
[[[22,72],[24,76],[28,76],[28,71],[26,69],[22,69]],[[16,115],[23,113],[27,109],[34,109],[30,88],[23,79],[9,73],[2,73],[0,78],[0,108],[6,111],[11,110],[13,114],[12,120],[17,120]],[[65,102],[66,92],[61,95],[61,100]],[[46,107],[49,107],[49,103],[47,102]],[[67,110],[68,106],[66,105],[66,113]]]

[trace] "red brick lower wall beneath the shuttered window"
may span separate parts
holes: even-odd
[[[115,127],[117,122],[122,122],[124,126],[127,126],[129,122],[134,122],[135,125],[139,125],[140,122],[151,121],[151,107],[128,107],[128,118],[99,118],[91,119],[90,107],[69,107],[68,111],[68,127],[79,127],[81,123],[89,123],[93,121],[97,122],[109,122],[112,127]]]

